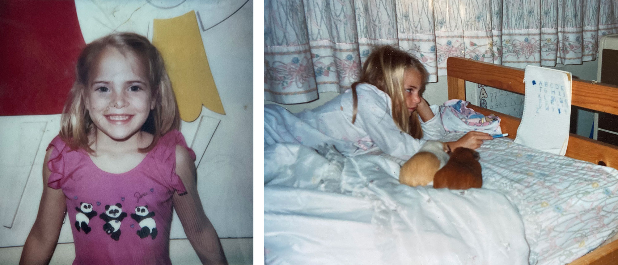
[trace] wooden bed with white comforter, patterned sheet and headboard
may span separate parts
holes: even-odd
[[[447,69],[449,99],[465,99],[465,81],[524,91],[517,68],[452,57]],[[574,80],[572,91],[573,105],[618,114],[615,86]],[[519,119],[468,107],[515,137]],[[400,185],[404,161],[384,153],[266,146],[266,264],[618,264],[618,241],[606,242],[618,147],[572,134],[566,157],[511,139],[478,152],[483,189],[457,191]]]

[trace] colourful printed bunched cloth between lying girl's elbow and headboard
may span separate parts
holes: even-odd
[[[481,131],[488,134],[501,134],[500,118],[493,114],[485,116],[466,107],[470,102],[451,99],[440,106],[442,124],[447,132]]]

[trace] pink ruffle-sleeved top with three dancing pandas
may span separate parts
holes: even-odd
[[[176,174],[176,145],[195,160],[174,130],[135,168],[114,174],[99,169],[87,152],[69,150],[59,136],[51,141],[48,185],[66,196],[73,264],[171,264],[172,195],[186,192]]]

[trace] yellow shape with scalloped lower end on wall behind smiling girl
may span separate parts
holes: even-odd
[[[153,44],[165,60],[182,120],[197,119],[202,104],[213,112],[226,114],[193,10],[179,17],[155,19]]]

